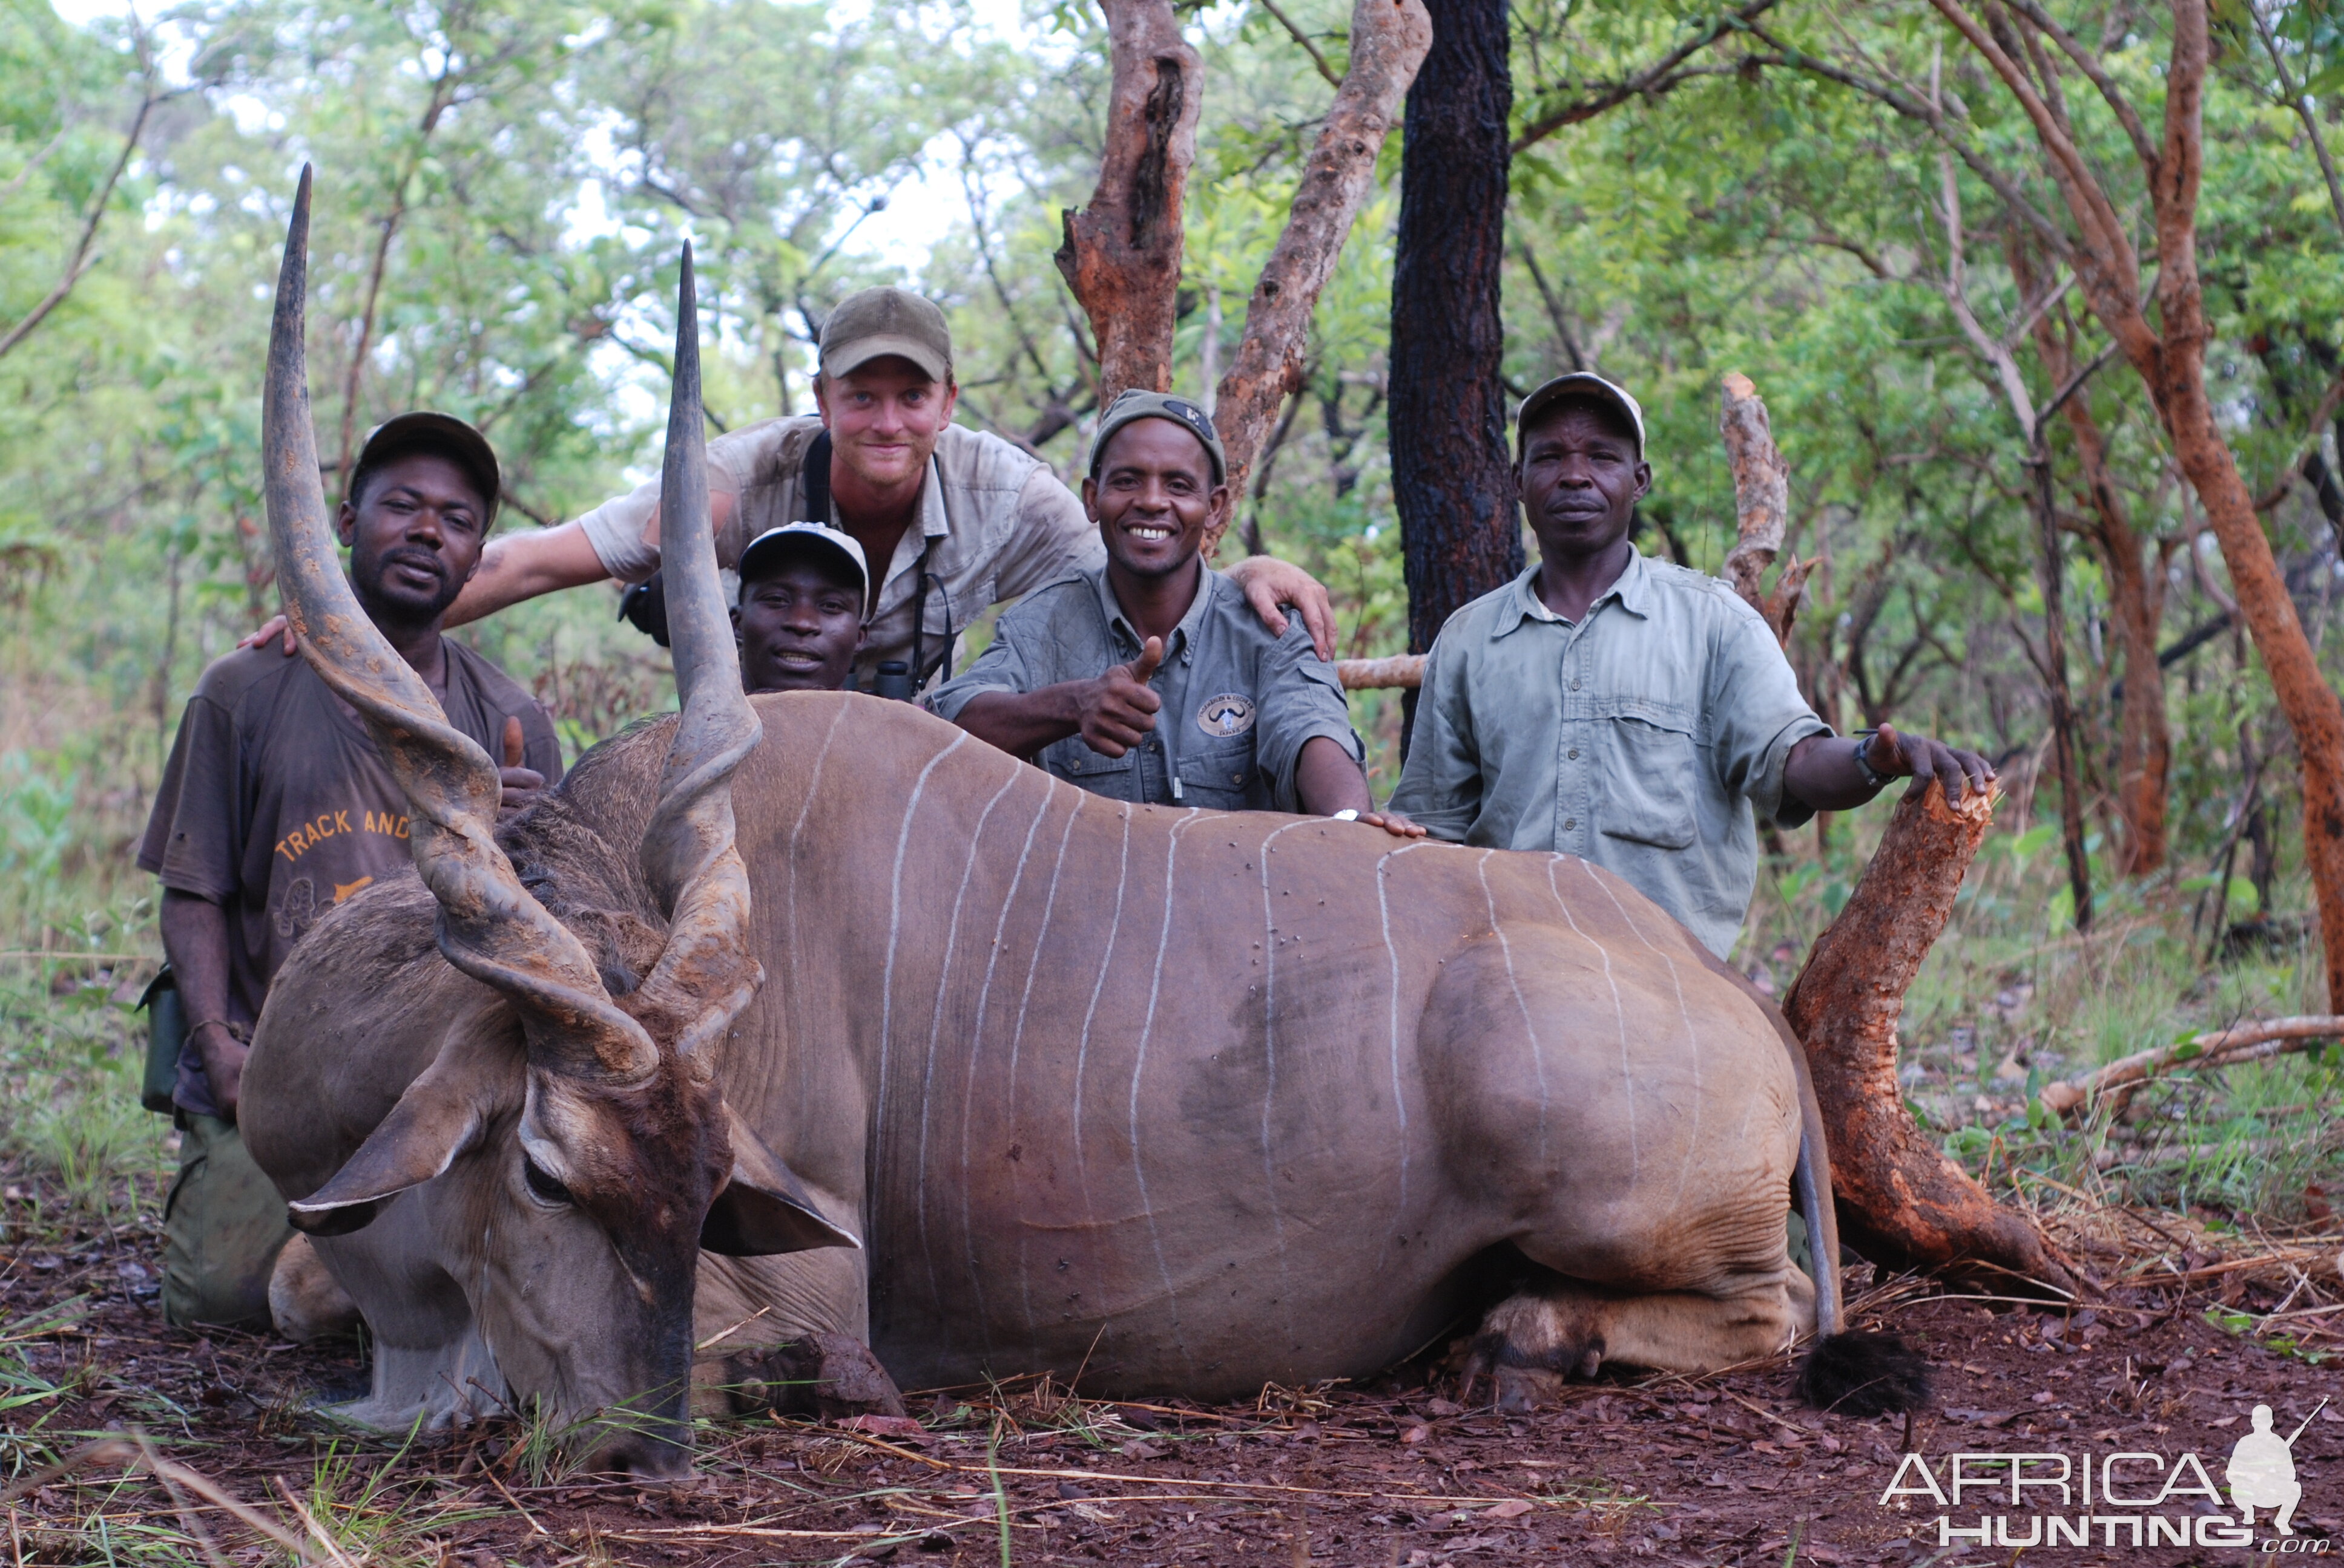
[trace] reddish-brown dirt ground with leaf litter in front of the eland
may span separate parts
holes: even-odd
[[[917,1423],[867,1418],[874,1430],[715,1425],[699,1477],[675,1488],[563,1479],[511,1423],[394,1455],[309,1413],[321,1392],[356,1392],[356,1345],[166,1329],[152,1294],[157,1249],[143,1228],[0,1247],[5,1336],[28,1352],[33,1376],[66,1390],[0,1409],[0,1425],[56,1453],[143,1430],[155,1451],[307,1540],[321,1563],[338,1559],[298,1523],[293,1498],[338,1538],[340,1561],[455,1568],[888,1559],[1957,1568],[2044,1554],[1941,1547],[1941,1512],[1974,1526],[1995,1507],[1976,1488],[1960,1509],[1927,1498],[1906,1512],[1882,1507],[1903,1420],[1803,1409],[1788,1362],[1699,1380],[1606,1373],[1528,1418],[1458,1409],[1437,1362],[1364,1388],[1266,1390],[1254,1406],[1224,1409],[1064,1399],[1031,1383],[921,1392],[907,1402]],[[2217,1280],[2131,1287],[2046,1315],[1931,1294],[1917,1280],[1866,1289],[1866,1277],[1852,1275],[1856,1322],[1903,1334],[1934,1364],[1936,1406],[1913,1425],[1913,1446],[1938,1481],[1953,1453],[2081,1463],[2138,1451],[2180,1463],[2185,1448],[2220,1481],[2257,1402],[2285,1432],[2337,1399],[2295,1444],[2304,1486],[2295,1528],[2325,1547],[2344,1521],[2344,1362],[2311,1364],[2302,1350],[2208,1322],[2208,1310],[2285,1305],[2276,1291],[2227,1282],[2224,1305],[2194,1294]],[[23,1453],[9,1444],[14,1470]],[[202,1495],[180,1488],[173,1502],[124,1458],[113,1448],[42,1486],[19,1484],[7,1507],[12,1561],[157,1561],[157,1552],[204,1561],[190,1533],[211,1535],[218,1563],[284,1559]],[[2210,1509],[2180,1498],[2166,1512]],[[2028,1521],[2013,1514],[2009,1528],[2023,1535]],[[141,1540],[148,1552],[131,1549]],[[162,1552],[166,1542],[180,1542],[176,1554]],[[2049,1556],[2185,1563],[2248,1552],[2096,1540]]]

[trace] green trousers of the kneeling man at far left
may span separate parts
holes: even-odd
[[[178,1179],[162,1209],[164,1322],[267,1329],[270,1270],[293,1235],[286,1200],[234,1123],[180,1111],[178,1130]]]

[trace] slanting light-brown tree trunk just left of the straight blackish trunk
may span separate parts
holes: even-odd
[[[1350,12],[1350,68],[1320,124],[1317,145],[1294,188],[1287,227],[1261,267],[1245,307],[1245,338],[1214,391],[1212,422],[1228,452],[1228,492],[1245,478],[1277,405],[1301,391],[1310,312],[1334,277],[1360,202],[1376,183],[1376,155],[1392,129],[1416,68],[1432,49],[1432,14],[1423,0],[1357,0]],[[1226,525],[1224,525],[1226,527]],[[1205,539],[1210,553],[1219,532]]]

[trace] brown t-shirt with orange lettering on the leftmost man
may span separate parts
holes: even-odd
[[[497,666],[448,640],[448,722],[504,757],[518,717],[523,762],[563,773],[553,720]],[[155,792],[138,867],[227,912],[227,1020],[260,1017],[277,968],[309,923],[359,888],[415,872],[408,802],[373,736],[302,659],[277,642],[213,661],[188,698]],[[190,1043],[178,1104],[218,1116]]]

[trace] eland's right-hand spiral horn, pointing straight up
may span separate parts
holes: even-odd
[[[764,738],[764,727],[741,694],[741,652],[717,584],[689,241],[675,298],[675,387],[668,398],[659,513],[668,647],[682,715],[659,778],[659,804],[638,851],[642,879],[668,916],[668,945],[638,989],[635,1005],[645,1017],[659,1017],[663,1034],[706,1076],[715,1071],[706,1045],[731,1027],[764,984],[764,968],[750,952],[748,867],[734,844],[731,811],[734,769]]]

